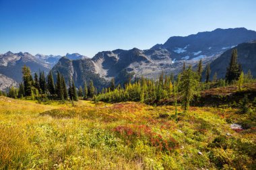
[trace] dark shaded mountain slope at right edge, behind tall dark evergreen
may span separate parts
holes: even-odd
[[[241,63],[243,72],[247,73],[250,69],[251,73],[256,75],[256,41],[238,44],[237,49],[238,62]],[[233,49],[233,48],[232,48]],[[232,49],[224,52],[220,57],[216,58],[211,64],[211,77],[216,72],[218,78],[224,78],[226,75],[226,67],[230,63]]]

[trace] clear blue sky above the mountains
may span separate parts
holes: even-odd
[[[0,54],[148,49],[170,36],[256,30],[255,0],[0,0]]]

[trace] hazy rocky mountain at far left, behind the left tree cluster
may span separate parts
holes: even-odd
[[[51,69],[51,65],[42,62],[28,52],[13,53],[9,51],[0,54],[0,79],[3,82],[0,85],[1,90],[10,85],[18,85],[18,82],[22,81],[22,67],[24,65],[30,67],[33,74],[39,70],[49,72]]]

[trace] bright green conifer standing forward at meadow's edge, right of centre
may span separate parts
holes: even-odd
[[[193,72],[191,66],[183,72],[181,76],[181,95],[184,102],[185,110],[189,109],[189,103],[193,99],[194,95],[197,94],[198,74]]]

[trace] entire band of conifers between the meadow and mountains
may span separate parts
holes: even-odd
[[[89,85],[84,82],[84,87],[75,86],[73,78],[70,77],[68,86],[65,79],[59,71],[57,72],[57,81],[54,82],[53,73],[50,71],[47,76],[44,71],[31,75],[30,69],[26,66],[22,68],[23,81],[19,88],[11,87],[9,93],[0,92],[0,95],[7,95],[13,98],[31,97],[32,99],[50,98],[57,100],[73,100],[92,98],[94,101],[119,102],[119,101],[140,101],[141,103],[157,103],[162,99],[177,97],[177,94],[183,101],[184,108],[189,108],[189,103],[193,97],[199,94],[199,91],[210,89],[212,87],[224,87],[232,83],[238,84],[238,89],[242,89],[244,82],[253,80],[251,71],[245,75],[241,64],[237,62],[237,50],[232,50],[230,63],[226,69],[225,79],[218,79],[217,73],[210,80],[210,64],[205,67],[205,81],[202,77],[203,64],[199,60],[197,68],[193,69],[191,65],[186,68],[185,62],[183,70],[176,77],[171,73],[167,75],[162,72],[158,79],[146,79],[144,77],[135,77],[133,81],[129,79],[125,85],[115,85],[115,79],[111,79],[107,88],[97,91],[94,82],[91,80]],[[174,102],[174,103],[177,103]]]

